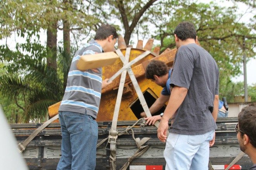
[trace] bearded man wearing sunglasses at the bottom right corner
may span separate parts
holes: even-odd
[[[249,170],[256,170],[256,106],[244,107],[238,114],[238,124],[235,126],[240,150],[253,161]]]

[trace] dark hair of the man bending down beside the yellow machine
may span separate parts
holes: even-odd
[[[166,75],[169,70],[170,69],[163,61],[153,60],[149,63],[149,65],[147,65],[145,77],[147,79],[155,80],[154,75],[161,77],[163,75]]]

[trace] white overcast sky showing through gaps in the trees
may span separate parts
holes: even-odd
[[[197,0],[197,2],[202,2],[202,3],[207,3],[207,2],[210,2],[210,1],[206,1],[206,0]],[[218,5],[220,6],[226,6],[226,7],[230,7],[232,6],[232,2],[230,1],[226,1],[226,0],[216,0],[215,2],[218,2]],[[238,3],[238,6],[239,6],[239,10],[238,10],[238,13],[240,14],[244,14],[248,8],[247,5],[243,4],[243,3]],[[254,15],[256,15],[256,11],[254,10],[254,14],[249,12],[249,13],[246,13],[243,15],[241,21],[243,22],[246,22],[248,23],[249,22],[249,19],[251,17],[253,17]],[[46,44],[46,38],[47,38],[47,35],[46,35],[46,31],[42,31],[40,32],[40,41],[43,43],[43,44]],[[135,44],[133,44],[133,47],[136,47],[137,46],[137,42],[138,42],[138,39],[137,39],[137,36],[134,36],[132,37],[131,39],[133,42],[135,42]],[[147,42],[148,39],[145,39],[143,44],[145,45],[146,42]],[[57,34],[57,42],[60,42],[60,41],[63,41],[63,35],[62,35],[62,32],[61,31],[58,31],[58,34]],[[17,37],[17,35],[13,35],[12,37],[8,38],[7,40],[0,40],[0,44],[5,44],[5,42],[7,42],[7,44],[9,44],[9,48],[10,49],[15,49],[15,45],[16,45],[16,42],[25,42],[25,39],[22,39],[20,37]],[[156,43],[156,42],[155,42]],[[256,58],[254,56],[254,59],[250,59],[248,62],[247,62],[247,85],[253,85],[256,83]],[[241,71],[242,73],[244,72],[244,68],[243,68],[243,65],[241,65]],[[242,82],[244,81],[244,75],[240,75],[240,76],[236,76],[234,78],[232,78],[232,81],[233,82]]]

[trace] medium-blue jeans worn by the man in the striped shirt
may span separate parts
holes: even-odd
[[[92,116],[59,112],[62,143],[57,170],[94,170],[98,124]]]

